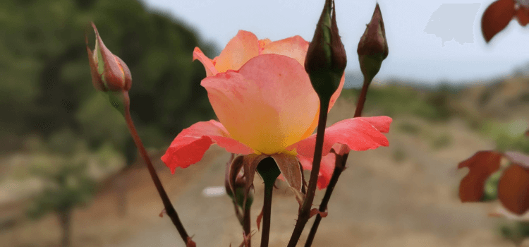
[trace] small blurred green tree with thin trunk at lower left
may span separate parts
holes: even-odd
[[[63,235],[61,246],[70,246],[73,209],[86,205],[95,192],[95,179],[87,172],[87,155],[78,152],[80,142],[71,131],[52,136],[48,152],[32,164],[30,175],[44,182],[44,188],[33,200],[28,215],[38,219],[55,212]]]

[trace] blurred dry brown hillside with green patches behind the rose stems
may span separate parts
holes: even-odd
[[[487,217],[494,205],[459,202],[458,182],[466,171],[456,166],[474,152],[498,145],[525,150],[527,142],[516,131],[523,133],[527,121],[514,121],[525,127],[512,123],[527,116],[528,105],[523,103],[528,80],[515,77],[460,89],[375,85],[365,115],[394,118],[390,146],[350,155],[314,246],[512,246],[498,234],[502,219]],[[343,92],[328,124],[353,116],[357,94]],[[213,147],[200,163],[174,175],[156,159],[170,198],[198,246],[236,246],[241,241],[229,198],[202,194],[209,186],[223,186],[228,157]],[[158,217],[162,205],[144,164],[104,184],[90,205],[75,211],[75,246],[181,246],[169,219]],[[119,204],[123,184],[128,198],[124,214]],[[262,205],[260,179],[255,187],[253,220]],[[293,228],[296,200],[282,183],[274,193],[271,246],[283,246]],[[11,219],[0,224],[1,243],[56,246],[60,231],[53,215],[31,222],[24,218],[25,200],[14,205],[0,205],[2,219]],[[259,232],[254,239],[260,239]]]

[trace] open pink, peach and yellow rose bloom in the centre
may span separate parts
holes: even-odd
[[[308,45],[300,36],[272,42],[241,30],[214,59],[195,48],[193,60],[199,60],[207,74],[201,85],[220,122],[198,122],[176,136],[162,157],[171,172],[199,162],[213,143],[239,155],[283,155],[295,160],[288,165],[299,161],[310,169],[320,102],[303,67]],[[335,156],[330,151],[335,143],[356,151],[387,146],[382,133],[389,131],[390,123],[387,116],[359,117],[327,128],[318,187],[325,188],[332,175]],[[283,166],[278,164],[282,172]]]

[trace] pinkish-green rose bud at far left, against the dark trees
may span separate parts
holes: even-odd
[[[130,90],[132,78],[130,71],[123,60],[112,54],[104,46],[103,40],[99,37],[99,32],[95,24],[92,23],[95,31],[95,49],[92,51],[88,48],[88,38],[85,37],[87,44],[88,61],[90,63],[90,73],[92,74],[92,83],[99,91],[121,92]]]

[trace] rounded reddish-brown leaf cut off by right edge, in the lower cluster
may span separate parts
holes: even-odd
[[[507,210],[523,215],[529,209],[529,170],[511,164],[499,179],[498,199]]]

